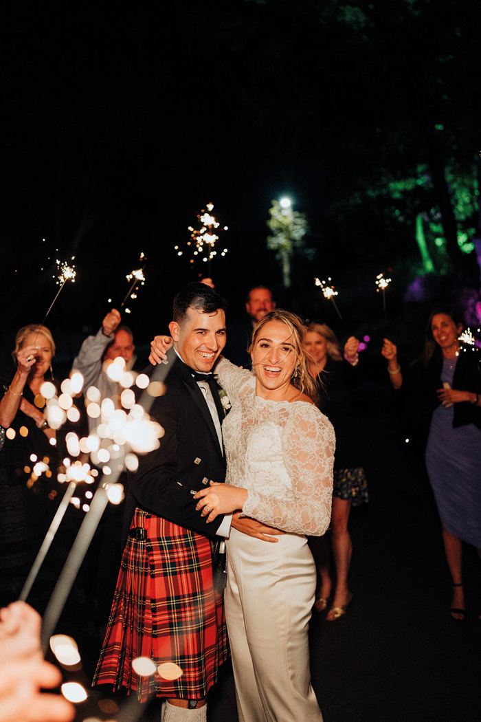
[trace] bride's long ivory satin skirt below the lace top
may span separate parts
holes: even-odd
[[[316,568],[304,536],[231,529],[225,611],[239,722],[322,722],[311,685]]]

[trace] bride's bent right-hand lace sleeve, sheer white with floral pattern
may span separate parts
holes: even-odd
[[[334,429],[315,406],[291,406],[297,408],[289,414],[282,445],[293,495],[271,497],[251,487],[243,513],[291,534],[322,536],[330,523]]]

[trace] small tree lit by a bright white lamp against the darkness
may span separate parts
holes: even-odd
[[[291,287],[291,261],[294,254],[311,256],[304,236],[308,230],[306,216],[292,209],[291,201],[284,198],[272,201],[267,222],[271,235],[267,238],[268,248],[275,251],[275,258],[281,263],[283,287]]]

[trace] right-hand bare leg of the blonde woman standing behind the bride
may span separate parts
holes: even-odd
[[[350,601],[348,573],[353,545],[348,531],[350,500],[332,499],[331,544],[336,567],[336,588],[332,606],[344,606]],[[329,613],[327,618],[330,618]]]

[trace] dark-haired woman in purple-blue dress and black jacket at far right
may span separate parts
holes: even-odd
[[[431,414],[425,461],[451,573],[450,614],[459,620],[465,616],[462,542],[472,544],[481,560],[481,367],[479,349],[463,347],[461,332],[452,310],[433,311],[424,355],[405,380],[397,348],[384,339],[382,349],[393,388],[406,387],[415,403],[411,408],[422,404]]]

